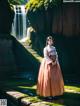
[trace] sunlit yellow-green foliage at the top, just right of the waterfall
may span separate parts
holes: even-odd
[[[61,0],[29,0],[26,4],[26,9],[37,11],[43,8],[53,7],[61,3]]]

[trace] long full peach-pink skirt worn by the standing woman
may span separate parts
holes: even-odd
[[[40,96],[59,96],[64,93],[64,81],[59,63],[47,64],[43,59],[38,75],[37,94]]]

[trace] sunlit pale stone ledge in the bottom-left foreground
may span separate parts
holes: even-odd
[[[49,106],[44,102],[36,102],[32,103],[29,99],[30,97],[26,94],[23,94],[18,91],[8,90],[4,91],[5,95],[8,96],[13,102],[15,101],[16,106]],[[32,98],[32,97],[31,97]]]

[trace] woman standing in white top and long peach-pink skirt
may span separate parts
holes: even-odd
[[[43,97],[60,96],[64,93],[64,81],[52,36],[47,37],[44,59],[40,65],[37,94]]]

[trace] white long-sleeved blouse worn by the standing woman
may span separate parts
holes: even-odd
[[[57,51],[56,51],[56,48],[54,46],[50,46],[50,45],[47,45],[45,48],[44,48],[44,59],[47,60],[48,63],[51,63],[52,60],[49,58],[48,54],[49,55],[56,55],[56,61],[58,61],[58,54],[57,54]]]

